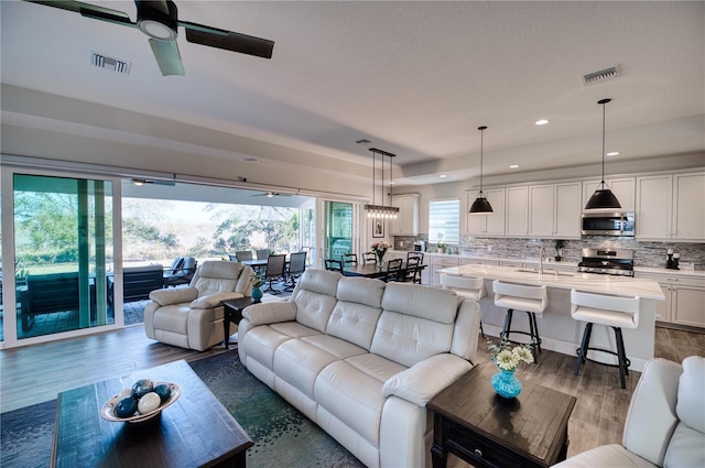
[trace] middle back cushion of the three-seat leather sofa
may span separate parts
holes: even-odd
[[[369,351],[377,322],[382,313],[384,283],[365,277],[341,277],[338,302],[333,308],[326,334]]]

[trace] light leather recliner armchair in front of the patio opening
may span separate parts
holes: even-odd
[[[151,339],[204,351],[223,341],[223,301],[250,296],[248,265],[205,261],[187,287],[156,290],[144,307],[144,331]],[[230,326],[230,334],[237,330]]]

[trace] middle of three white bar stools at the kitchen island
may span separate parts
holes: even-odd
[[[541,337],[539,336],[539,325],[536,316],[543,317],[543,311],[549,305],[549,293],[546,286],[527,286],[524,284],[502,283],[499,280],[492,282],[495,292],[495,305],[507,307],[505,315],[505,326],[499,335],[500,340],[511,341],[510,334],[528,335],[531,338],[531,351],[534,362],[538,361],[541,352]],[[514,311],[525,312],[529,317],[529,331],[512,330],[511,319]]]

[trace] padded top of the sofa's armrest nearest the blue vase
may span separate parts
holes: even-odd
[[[397,395],[419,406],[473,369],[473,364],[455,355],[443,353],[410,367],[384,382],[382,394]]]

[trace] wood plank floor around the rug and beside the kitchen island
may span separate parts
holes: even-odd
[[[657,328],[655,356],[682,361],[705,356],[705,335]],[[480,359],[488,360],[480,340]],[[142,326],[85,338],[0,351],[0,412],[53,400],[61,391],[178,359],[187,361],[223,352],[223,346],[198,352],[152,341]],[[620,443],[627,409],[639,372],[619,388],[616,368],[587,362],[573,374],[575,358],[544,350],[539,363],[524,366],[520,379],[577,396],[570,422],[570,455]]]

